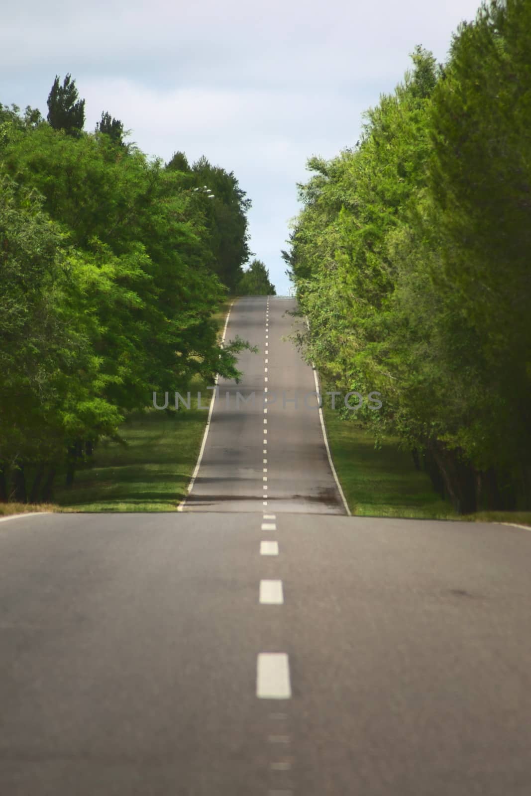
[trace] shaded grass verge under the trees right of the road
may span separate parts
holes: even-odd
[[[379,450],[373,435],[355,421],[342,420],[323,406],[334,466],[350,511],[357,517],[513,522],[531,525],[531,512],[482,511],[460,516],[432,489],[428,474],[416,470],[398,439],[387,437]]]

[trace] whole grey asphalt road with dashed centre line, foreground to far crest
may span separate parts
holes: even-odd
[[[531,533],[348,517],[318,412],[221,404],[182,512],[0,522],[0,794],[529,796]]]

